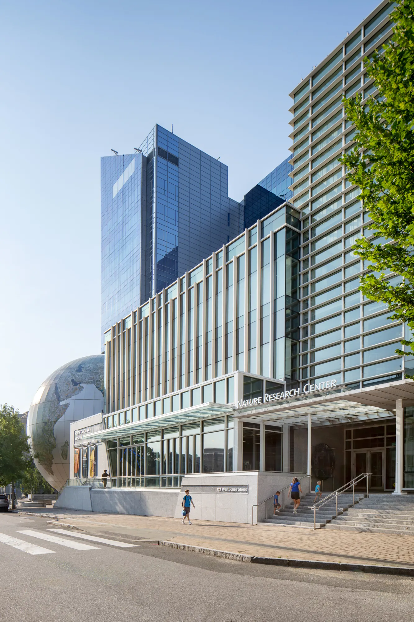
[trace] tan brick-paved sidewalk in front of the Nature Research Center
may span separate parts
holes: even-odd
[[[23,510],[24,512],[25,510]],[[414,536],[298,529],[272,524],[235,524],[126,514],[33,509],[37,516],[57,519],[85,531],[140,537],[218,549],[244,555],[346,564],[414,568]]]

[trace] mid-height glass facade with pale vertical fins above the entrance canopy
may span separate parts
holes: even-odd
[[[298,216],[282,205],[105,333],[106,412],[157,398],[171,412],[171,392],[235,371],[296,386]]]

